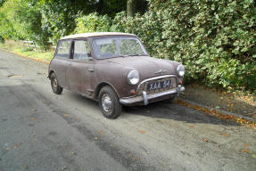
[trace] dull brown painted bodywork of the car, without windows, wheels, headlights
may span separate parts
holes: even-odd
[[[118,37],[119,35],[87,36],[87,37],[64,37],[62,40],[87,40],[92,49],[92,59],[90,61],[72,60],[72,48],[70,49],[70,58],[64,59],[54,57],[49,65],[49,76],[55,72],[59,84],[66,89],[77,92],[97,100],[97,94],[103,85],[111,85],[119,98],[128,98],[135,96],[130,90],[135,89],[140,82],[150,77],[163,75],[173,75],[176,78],[176,86],[182,81],[182,77],[177,77],[178,62],[156,59],[150,56],[130,56],[109,58],[97,60],[93,53],[92,40],[96,37]],[[121,37],[136,37],[135,35],[120,35]],[[137,37],[136,37],[137,38]],[[128,84],[128,72],[136,69],[140,75],[140,81],[137,85]],[[137,94],[138,95],[138,94]],[[161,99],[161,98],[159,98]]]

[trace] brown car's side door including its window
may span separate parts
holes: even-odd
[[[72,61],[66,74],[70,89],[91,96],[93,93],[91,79],[95,74],[95,65],[91,57],[89,42],[74,40],[71,53]]]

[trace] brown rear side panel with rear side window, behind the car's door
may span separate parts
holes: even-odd
[[[70,48],[71,40],[61,40],[58,43],[57,50],[54,56],[54,60],[51,65],[54,66],[54,72],[58,79],[59,84],[62,87],[68,87],[66,79],[66,71],[70,65]]]

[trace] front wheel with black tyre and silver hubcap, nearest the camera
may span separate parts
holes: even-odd
[[[98,95],[99,107],[106,118],[118,118],[121,114],[122,106],[119,97],[111,86],[103,86]]]

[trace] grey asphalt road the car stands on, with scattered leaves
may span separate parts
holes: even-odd
[[[0,171],[256,170],[256,131],[174,103],[115,120],[53,94],[47,65],[0,51]]]

